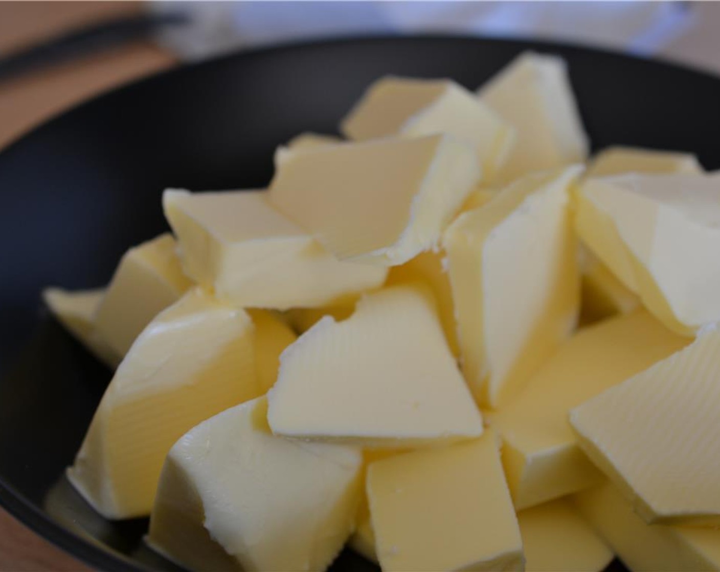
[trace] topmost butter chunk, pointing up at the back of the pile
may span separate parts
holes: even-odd
[[[588,136],[561,58],[522,53],[481,86],[478,96],[516,130],[515,145],[495,177],[498,182],[587,157]]]

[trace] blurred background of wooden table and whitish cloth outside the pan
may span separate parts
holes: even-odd
[[[95,94],[277,42],[366,34],[539,38],[720,74],[720,3],[0,1],[0,149]],[[79,571],[0,510],[0,571]]]

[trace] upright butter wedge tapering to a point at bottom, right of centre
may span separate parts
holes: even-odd
[[[575,327],[579,172],[527,176],[445,232],[463,372],[483,404],[507,402]]]

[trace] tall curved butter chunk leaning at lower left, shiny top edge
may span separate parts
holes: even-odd
[[[173,443],[259,394],[250,317],[192,289],[135,340],[68,477],[104,517],[146,516]]]

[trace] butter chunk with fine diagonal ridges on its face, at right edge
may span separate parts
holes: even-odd
[[[580,446],[647,522],[720,525],[720,332],[572,410]]]

